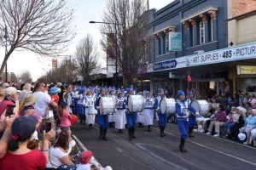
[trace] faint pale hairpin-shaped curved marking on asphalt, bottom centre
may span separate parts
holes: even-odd
[[[195,163],[193,163],[193,162],[191,162],[191,161],[188,161],[188,160],[185,160],[182,156],[176,154],[175,152],[172,152],[171,150],[166,150],[166,149],[164,149],[164,148],[162,148],[162,147],[160,147],[160,146],[158,146],[158,145],[155,145],[155,144],[143,144],[143,143],[137,143],[136,145],[137,145],[138,148],[140,148],[141,150],[146,151],[146,152],[147,152],[148,154],[150,154],[151,156],[154,156],[154,157],[156,157],[157,159],[160,159],[160,161],[164,161],[164,162],[166,162],[167,164],[172,165],[172,166],[174,166],[174,167],[186,169],[185,167],[180,167],[180,166],[178,166],[177,164],[172,163],[171,161],[167,161],[166,159],[164,159],[164,158],[162,158],[162,157],[160,157],[160,156],[157,156],[157,155],[154,154],[153,152],[151,152],[151,151],[147,150],[145,147],[143,147],[143,145],[148,145],[148,146],[151,146],[151,147],[155,147],[155,148],[157,148],[158,150],[165,150],[165,151],[167,151],[168,153],[170,153],[170,154],[172,154],[172,155],[174,155],[174,156],[179,157],[182,161],[185,161],[186,163],[189,163],[190,165],[192,165],[192,166],[194,166],[194,167],[197,167],[198,169],[202,169],[202,168],[198,167]],[[174,164],[174,165],[173,165],[173,164]]]

